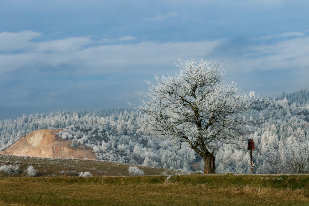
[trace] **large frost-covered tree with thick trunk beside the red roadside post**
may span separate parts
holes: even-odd
[[[205,173],[215,173],[219,143],[243,140],[249,102],[236,83],[224,83],[222,63],[191,59],[176,66],[179,74],[155,76],[157,86],[148,82],[149,93],[143,94],[148,100],[136,108],[145,114],[147,133],[174,140],[180,148],[187,143],[203,158]]]

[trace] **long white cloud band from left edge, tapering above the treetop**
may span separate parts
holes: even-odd
[[[28,38],[28,41],[24,41],[25,47],[28,46],[27,49],[0,54],[0,76],[2,72],[12,72],[21,68],[32,68],[32,72],[35,72],[36,69],[46,66],[49,70],[57,70],[58,67],[62,68],[62,65],[76,67],[74,75],[80,76],[120,72],[138,73],[147,68],[162,69],[167,65],[174,66],[173,63],[179,58],[205,58],[219,44],[218,40],[174,43],[146,41],[123,44],[125,41],[134,39],[133,36],[102,40],[70,37],[31,42],[31,38]],[[62,71],[61,75],[72,75],[72,71],[65,72]],[[33,76],[31,73],[28,75],[29,78]]]

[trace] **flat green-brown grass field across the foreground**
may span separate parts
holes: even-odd
[[[0,205],[309,205],[309,176],[0,178]]]

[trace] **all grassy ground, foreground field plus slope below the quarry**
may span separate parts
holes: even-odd
[[[0,155],[2,165],[20,170],[0,171],[0,206],[309,205],[309,175],[175,175],[138,166],[145,176],[127,176],[129,164],[11,155]],[[29,165],[36,177],[27,177]],[[77,177],[81,171],[93,177]]]

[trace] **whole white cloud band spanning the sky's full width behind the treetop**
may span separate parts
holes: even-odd
[[[209,60],[214,61],[223,59],[225,69],[240,73],[309,67],[307,49],[309,37],[304,36],[302,32],[278,34],[278,37],[289,36],[291,38],[289,40],[279,39],[271,44],[256,45],[258,42],[255,42],[254,45],[228,45],[232,47],[228,48],[230,50],[237,49],[235,50],[236,56],[225,53],[225,47],[219,49],[223,40],[165,43],[145,41],[123,44],[123,41],[131,41],[135,38],[123,36],[108,40],[92,40],[86,36],[32,42],[32,39],[40,34],[29,31],[26,34],[28,37],[23,38],[22,48],[28,46],[27,50],[0,54],[0,76],[2,78],[7,78],[7,72],[19,71],[23,68],[32,68],[31,72],[25,75],[33,78],[33,73],[42,67],[48,67],[49,72],[54,69],[63,77],[71,77],[72,71],[75,76],[80,77],[141,73],[160,75],[169,73],[167,69],[175,72],[174,62],[178,59],[186,60],[192,57],[210,58]],[[11,34],[11,36],[14,35]],[[8,48],[5,49],[8,50]],[[36,75],[44,75],[44,69]]]

